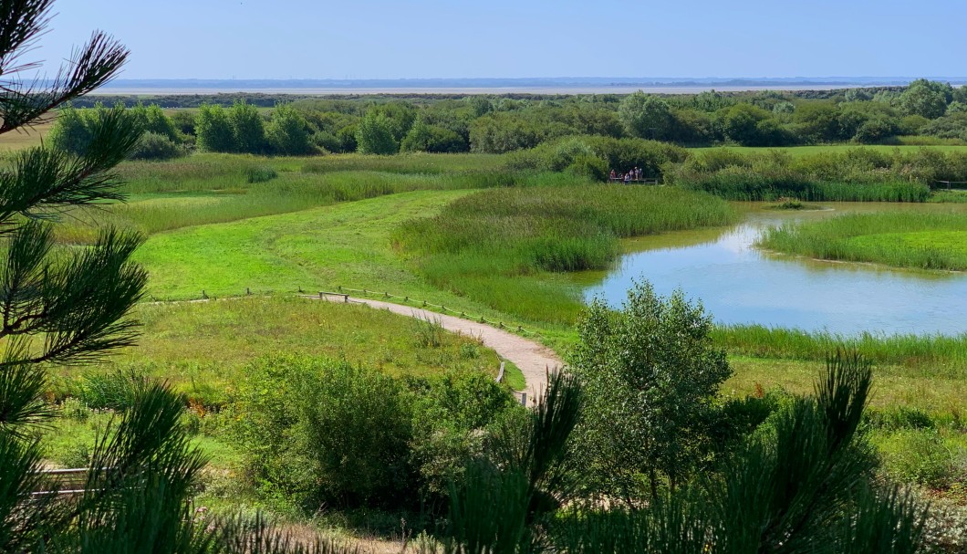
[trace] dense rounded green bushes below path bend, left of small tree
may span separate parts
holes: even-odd
[[[513,407],[482,374],[403,383],[348,364],[276,357],[247,369],[235,432],[261,492],[297,508],[432,508],[481,452],[482,429]]]

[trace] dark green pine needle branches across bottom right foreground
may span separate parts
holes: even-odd
[[[528,486],[533,474],[514,464],[498,466],[500,470],[474,468],[465,487],[454,490],[443,549],[589,554],[924,552],[926,511],[908,494],[873,478],[875,457],[859,432],[871,376],[862,359],[832,356],[814,397],[790,398],[763,425],[768,429],[748,437],[717,464],[716,471],[659,494],[639,510],[575,504],[548,520],[535,510],[535,496],[530,494],[534,487]],[[570,434],[578,420],[569,412],[582,406],[559,406],[559,412],[547,410],[557,412],[555,417],[543,420],[559,428],[523,433],[516,444],[537,442],[528,436]],[[567,455],[551,452],[550,459],[567,466]]]

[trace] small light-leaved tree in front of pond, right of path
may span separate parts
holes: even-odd
[[[681,291],[667,300],[635,285],[623,309],[595,301],[578,324],[571,368],[588,394],[580,452],[602,492],[631,505],[639,479],[656,500],[707,455],[706,422],[731,375],[712,346],[712,318]]]

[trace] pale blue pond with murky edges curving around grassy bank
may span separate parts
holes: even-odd
[[[636,250],[585,289],[621,306],[634,279],[647,279],[667,296],[682,288],[701,300],[719,323],[828,330],[845,335],[967,333],[967,275],[890,270],[866,264],[820,262],[764,252],[752,244],[783,220],[825,218],[883,205],[834,205],[828,212],[778,214],[753,209],[725,230],[646,237]],[[891,206],[930,210],[936,206]],[[950,208],[947,208],[950,209]]]

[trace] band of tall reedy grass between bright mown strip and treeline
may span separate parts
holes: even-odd
[[[201,154],[126,162],[119,174],[127,182],[130,201],[76,210],[59,226],[57,237],[63,243],[88,244],[97,235],[94,222],[153,235],[411,190],[526,186],[560,178],[494,169],[494,157],[448,156],[270,159]]]

